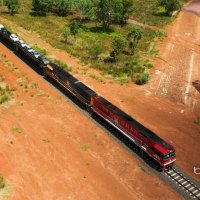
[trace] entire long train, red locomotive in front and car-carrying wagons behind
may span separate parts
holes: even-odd
[[[156,161],[161,171],[172,167],[176,160],[176,154],[171,144],[98,95],[69,72],[49,61],[1,24],[0,39],[22,58],[26,58],[35,67],[42,70],[45,76],[54,80],[69,92],[79,103],[84,105],[87,112],[91,115],[96,114],[99,116],[139,147],[142,152],[148,154],[149,157]]]

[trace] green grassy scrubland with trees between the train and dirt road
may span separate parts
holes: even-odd
[[[6,14],[3,17],[36,32],[53,47],[100,70],[103,76],[111,75],[120,83],[131,77],[143,84],[149,79],[146,60],[151,65],[158,53],[156,42],[166,33],[126,22],[131,15],[139,21],[148,18],[150,24],[166,24],[171,17],[155,13],[157,3],[158,0],[21,0],[16,17]],[[46,55],[41,47],[34,45],[33,48]],[[54,62],[71,70],[61,61]]]

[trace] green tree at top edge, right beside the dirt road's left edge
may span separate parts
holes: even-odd
[[[157,1],[158,1],[158,6],[164,7],[168,15],[170,15],[173,11],[179,10],[181,8],[179,0],[157,0]]]

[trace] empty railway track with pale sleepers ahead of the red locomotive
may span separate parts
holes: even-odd
[[[200,187],[194,183],[189,177],[183,174],[178,168],[170,168],[168,171],[164,172],[164,175],[172,180],[176,185],[178,185],[183,192],[186,193],[187,199],[197,199],[200,200]]]

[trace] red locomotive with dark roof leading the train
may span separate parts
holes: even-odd
[[[93,98],[92,104],[93,112],[101,116],[156,160],[161,170],[167,169],[176,160],[175,150],[170,144],[106,99],[96,96]]]

